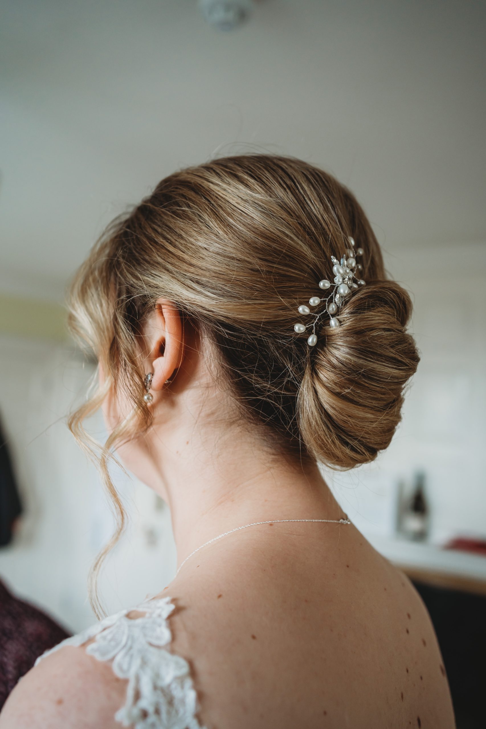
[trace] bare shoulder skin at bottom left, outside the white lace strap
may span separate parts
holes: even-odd
[[[63,647],[20,679],[0,714],[0,729],[115,729],[126,683],[85,647]]]

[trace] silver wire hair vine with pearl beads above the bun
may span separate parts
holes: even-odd
[[[321,316],[324,316],[324,314],[327,313],[329,316],[329,326],[339,327],[340,321],[336,314],[339,316],[339,311],[344,302],[356,289],[359,288],[359,286],[365,285],[363,278],[358,278],[358,276],[360,276],[359,272],[363,270],[363,266],[356,261],[358,256],[363,255],[363,249],[355,249],[354,238],[348,238],[348,241],[350,241],[351,247],[350,249],[347,249],[346,254],[341,257],[340,261],[337,260],[335,256],[331,256],[331,261],[333,262],[334,283],[331,284],[331,281],[328,281],[327,278],[323,278],[322,281],[319,281],[319,288],[323,289],[323,291],[328,291],[328,295],[322,299],[319,296],[312,296],[309,299],[309,305],[312,307],[324,304],[322,310],[317,313],[312,312],[313,319],[311,324],[298,323],[293,325],[293,330],[294,332],[297,332],[297,334],[304,334],[304,332],[308,332],[309,329],[312,328],[312,334],[307,338],[307,344],[309,347],[313,347],[315,346],[315,343],[317,343],[315,327]],[[303,316],[309,316],[311,310],[306,304],[301,304],[298,307],[298,313]]]

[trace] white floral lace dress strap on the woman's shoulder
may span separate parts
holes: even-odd
[[[172,636],[167,618],[174,609],[169,597],[150,599],[131,610],[109,615],[80,634],[67,638],[36,660],[63,646],[111,660],[113,672],[127,679],[126,702],[115,720],[134,729],[204,729],[196,719],[198,701],[188,661],[163,650]],[[142,617],[127,617],[132,610]]]

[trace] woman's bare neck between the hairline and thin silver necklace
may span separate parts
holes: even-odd
[[[236,426],[180,422],[150,437],[158,473],[151,485],[169,503],[178,566],[204,542],[247,523],[342,518],[315,463],[269,453],[261,437]]]

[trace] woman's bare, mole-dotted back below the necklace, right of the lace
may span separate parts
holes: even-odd
[[[211,729],[454,727],[431,621],[354,528],[245,534],[171,586]],[[244,543],[243,543],[244,542]]]

